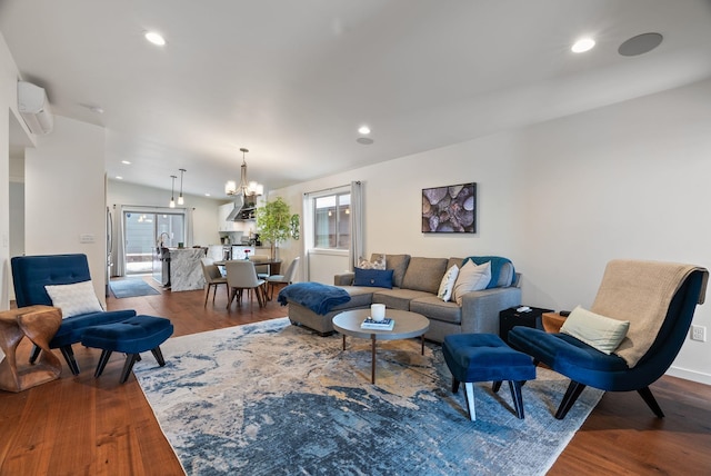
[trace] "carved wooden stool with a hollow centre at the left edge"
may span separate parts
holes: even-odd
[[[0,311],[0,348],[4,353],[0,361],[0,389],[22,391],[59,378],[62,364],[49,348],[49,341],[61,324],[61,310],[51,306]],[[37,364],[18,369],[16,353],[26,336],[41,354]]]

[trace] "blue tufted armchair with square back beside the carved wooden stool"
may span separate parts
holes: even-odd
[[[44,255],[17,256],[10,260],[14,297],[18,307],[46,305],[51,306],[52,299],[47,294],[47,285],[72,285],[91,279],[87,255]],[[136,316],[132,309],[89,313],[62,319],[59,330],[50,340],[49,347],[60,349],[73,375],[79,374],[79,366],[74,359],[72,344],[81,341],[87,327],[102,324],[118,323]],[[34,348],[30,363],[39,357],[39,349]]]

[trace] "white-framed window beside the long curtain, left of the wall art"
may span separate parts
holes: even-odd
[[[351,194],[313,199],[313,247],[349,249],[351,245]]]

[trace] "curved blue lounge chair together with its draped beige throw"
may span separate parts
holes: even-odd
[[[527,327],[514,327],[509,343],[571,379],[555,414],[558,419],[565,417],[585,386],[637,390],[654,415],[663,418],[649,386],[679,354],[697,304],[703,304],[708,276],[707,269],[688,265],[610,261],[591,310],[630,321],[627,337],[614,353],[603,354],[567,334]],[[657,323],[650,319],[653,314],[659,316]],[[632,359],[631,353],[637,353]]]

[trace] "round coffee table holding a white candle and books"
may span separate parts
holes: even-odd
[[[375,383],[375,340],[399,340],[420,337],[422,355],[424,355],[424,333],[430,328],[430,320],[421,314],[408,310],[385,309],[385,317],[393,319],[395,325],[392,330],[361,329],[370,309],[347,310],[333,317],[333,328],[343,336],[343,350],[346,350],[346,336],[370,339],[372,351],[371,383]]]

